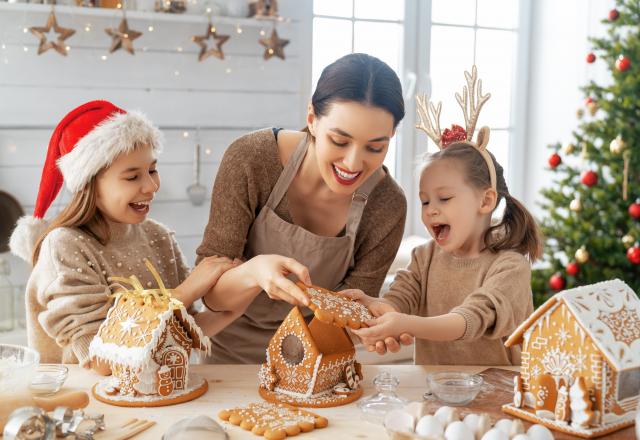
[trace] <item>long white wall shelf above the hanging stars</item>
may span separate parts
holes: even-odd
[[[33,3],[7,3],[0,1],[0,12],[33,12],[33,13],[49,13],[51,11],[51,5],[33,4]],[[107,8],[85,8],[79,6],[64,6],[56,5],[56,15],[74,15],[74,16],[89,16],[89,17],[121,17],[122,10],[120,9],[107,9]],[[166,21],[177,23],[206,23],[208,18],[207,14],[172,14],[164,12],[146,12],[146,11],[126,11],[127,19],[129,20],[146,20],[146,21]],[[278,25],[285,25],[290,23],[296,23],[297,20],[291,20],[289,18],[277,17],[277,18],[243,18],[243,17],[228,17],[220,15],[212,15],[211,22],[213,24],[230,24],[240,25],[243,27],[263,27],[271,23]]]

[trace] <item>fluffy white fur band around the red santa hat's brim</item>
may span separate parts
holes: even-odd
[[[93,176],[122,153],[136,145],[152,145],[162,150],[162,134],[142,113],[117,113],[98,124],[78,141],[69,153],[58,159],[58,168],[72,193],[80,191]]]

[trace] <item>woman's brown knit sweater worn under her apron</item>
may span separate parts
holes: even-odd
[[[196,251],[196,262],[211,255],[243,257],[249,229],[282,170],[278,143],[270,128],[242,136],[229,146],[213,185],[209,223]],[[293,223],[286,195],[275,212]],[[362,214],[355,265],[336,289],[362,289],[378,296],[400,246],[406,212],[404,193],[387,173],[369,195]]]

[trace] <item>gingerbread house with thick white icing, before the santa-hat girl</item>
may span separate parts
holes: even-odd
[[[134,290],[115,295],[89,347],[91,359],[112,371],[94,387],[95,397],[120,406],[161,406],[202,395],[207,382],[189,372],[189,357],[192,350],[209,354],[211,341],[159,277],[160,289],[145,290],[135,277],[130,280],[118,280]]]

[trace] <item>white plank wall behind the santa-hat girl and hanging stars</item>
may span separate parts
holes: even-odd
[[[144,32],[134,42],[136,55],[124,51],[109,55],[110,38],[103,29],[117,26],[119,16],[72,15],[61,8],[59,24],[76,29],[67,40],[69,56],[53,50],[37,56],[37,39],[23,28],[42,26],[48,10],[3,9],[0,2],[0,189],[32,213],[49,136],[66,112],[93,99],[140,109],[160,126],[167,141],[159,159],[162,186],[151,217],[176,230],[193,263],[210,203],[193,207],[186,195],[192,183],[196,128],[200,127],[203,150],[211,150],[209,155],[203,152],[201,182],[210,190],[224,149],[235,137],[261,127],[304,125],[311,89],[312,2],[279,3],[281,15],[293,19],[278,25],[280,37],[290,40],[285,61],[262,59],[259,32],[269,33],[269,23],[243,26],[242,34],[230,23],[217,25],[219,33],[231,35],[223,46],[226,59],[198,62],[199,48],[190,38],[203,34],[204,17],[197,22],[186,17],[149,21],[131,14],[130,27]],[[87,33],[84,27],[89,22],[92,30]],[[152,33],[149,25],[154,26]],[[108,55],[106,61],[102,55]],[[68,200],[69,195],[61,193],[49,215]],[[14,257],[10,264],[12,281],[24,284],[28,266]]]

